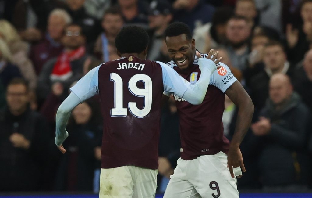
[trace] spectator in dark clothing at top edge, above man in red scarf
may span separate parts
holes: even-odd
[[[88,47],[93,49],[93,42],[100,34],[100,21],[91,17],[84,7],[85,0],[66,0],[68,13],[71,15],[73,23],[82,28],[82,32],[89,44]]]

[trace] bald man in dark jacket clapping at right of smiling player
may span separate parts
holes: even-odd
[[[285,74],[271,77],[270,97],[261,115],[251,129],[262,137],[259,168],[264,189],[282,192],[304,189],[311,172],[305,154],[311,117]]]

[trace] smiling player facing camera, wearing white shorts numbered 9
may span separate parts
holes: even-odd
[[[165,41],[172,58],[167,65],[196,85],[202,72],[189,27],[181,22],[170,24],[165,31]],[[201,54],[201,57],[207,56],[210,54]],[[192,105],[184,97],[173,94],[180,119],[181,158],[170,177],[164,198],[239,197],[234,174],[240,178],[241,168],[246,171],[239,145],[250,126],[254,107],[230,69],[219,64],[221,67],[210,77],[202,104]],[[223,135],[225,94],[238,107],[231,144]]]

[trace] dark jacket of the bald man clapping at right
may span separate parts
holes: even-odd
[[[263,137],[259,159],[265,186],[307,184],[310,157],[306,153],[311,115],[299,95],[293,93],[280,110],[267,101],[262,113],[271,121],[271,130]]]

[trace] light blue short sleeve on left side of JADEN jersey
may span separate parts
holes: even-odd
[[[84,77],[82,77],[73,87],[70,88],[80,102],[87,100],[88,98],[99,93],[99,69],[101,66],[93,68]]]

